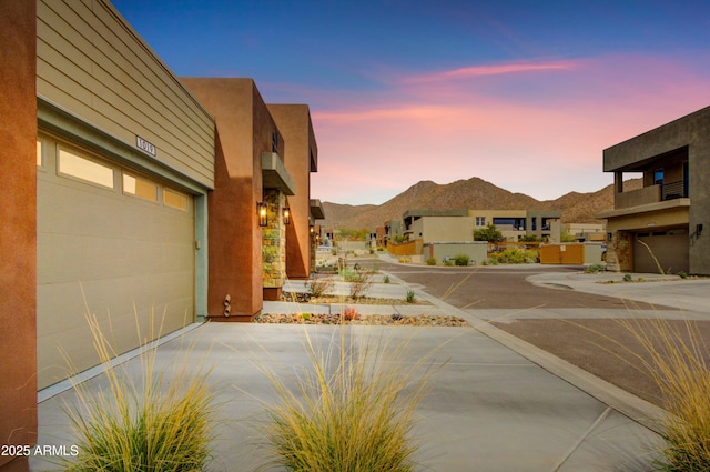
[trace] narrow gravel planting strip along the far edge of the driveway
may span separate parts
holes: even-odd
[[[254,323],[469,327],[468,322],[463,318],[438,314],[358,314],[356,317],[352,317],[349,320],[347,318],[339,313],[265,313],[256,315],[256,318],[254,318]]]

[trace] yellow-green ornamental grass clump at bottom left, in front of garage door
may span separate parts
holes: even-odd
[[[108,388],[75,385],[77,403],[64,410],[79,453],[62,460],[67,471],[201,471],[211,454],[214,393],[209,371],[189,374],[194,361],[155,369],[155,349],[140,355],[141,376],[112,365],[115,352],[93,315],[88,317]]]

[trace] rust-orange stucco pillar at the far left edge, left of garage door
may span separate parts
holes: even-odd
[[[0,443],[37,439],[37,7],[0,0]],[[0,470],[29,470],[0,455]]]

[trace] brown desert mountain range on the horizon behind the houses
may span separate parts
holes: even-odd
[[[625,182],[625,190],[641,187],[641,179]],[[513,193],[474,177],[468,180],[438,184],[425,180],[409,187],[383,204],[349,205],[323,202],[324,228],[352,230],[382,227],[386,221],[400,220],[407,210],[560,210],[564,223],[594,223],[594,215],[613,208],[613,184],[590,192],[570,192],[557,200],[539,201],[523,193]]]

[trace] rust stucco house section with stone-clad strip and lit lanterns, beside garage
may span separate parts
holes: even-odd
[[[261,311],[263,299],[278,299],[286,279],[284,212],[296,183],[282,160],[284,137],[252,79],[182,81],[216,123],[216,182],[209,203],[214,229],[210,231],[209,317],[248,321]],[[260,215],[262,205],[265,214]],[[307,221],[301,205],[294,210]]]

